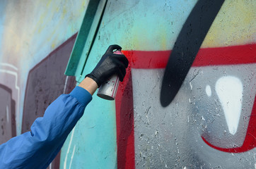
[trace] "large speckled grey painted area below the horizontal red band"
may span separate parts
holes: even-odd
[[[256,93],[255,68],[256,64],[192,67],[166,108],[160,104],[163,69],[132,69],[136,168],[255,168],[256,149],[231,154],[202,139],[221,148],[243,144]],[[218,89],[221,80],[228,88]],[[241,91],[225,94],[225,90],[239,85],[242,99],[234,102],[235,93]],[[221,102],[218,90],[224,91],[226,100]],[[223,103],[229,108],[240,103],[241,109],[225,113]]]

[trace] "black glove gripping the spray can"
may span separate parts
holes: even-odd
[[[121,50],[122,48],[117,44],[110,45],[93,71],[86,75],[86,77],[92,78],[98,84],[98,87],[115,74],[118,75],[121,82],[124,80],[125,68],[128,67],[129,62],[123,54],[113,54],[115,49]]]

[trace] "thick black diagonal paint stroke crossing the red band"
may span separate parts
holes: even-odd
[[[199,0],[192,9],[170,54],[163,75],[161,105],[166,107],[175,98],[185,80],[211,24],[225,0]]]

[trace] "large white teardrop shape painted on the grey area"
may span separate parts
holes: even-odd
[[[237,77],[224,76],[217,80],[215,89],[223,107],[228,130],[235,134],[242,110],[243,84]]]

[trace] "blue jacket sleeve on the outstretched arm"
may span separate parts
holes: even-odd
[[[0,145],[0,168],[47,168],[91,99],[81,87],[59,96],[45,115],[35,120],[30,132]]]

